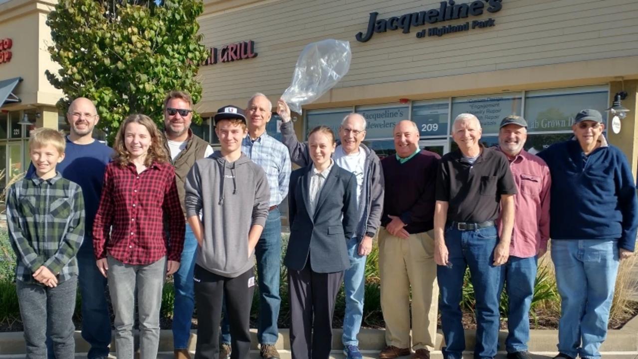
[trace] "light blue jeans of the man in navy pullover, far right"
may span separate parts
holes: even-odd
[[[618,273],[615,240],[552,240],[561,297],[558,351],[572,358],[600,358]]]

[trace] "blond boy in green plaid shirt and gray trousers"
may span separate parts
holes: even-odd
[[[63,179],[64,136],[54,129],[31,133],[36,172],[9,187],[6,221],[17,255],[16,288],[27,358],[47,358],[47,330],[56,358],[74,358],[73,311],[84,239],[84,200],[78,184]]]

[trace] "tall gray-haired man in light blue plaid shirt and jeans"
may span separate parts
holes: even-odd
[[[279,270],[281,268],[281,212],[279,203],[288,194],[290,180],[290,156],[286,147],[266,133],[271,121],[272,103],[261,93],[254,94],[246,105],[248,135],[244,137],[241,152],[263,168],[268,179],[271,197],[269,212],[262,235],[255,247],[257,281],[259,286],[259,317],[257,340],[260,355],[264,359],[279,358],[275,344],[279,337]],[[221,326],[221,350],[219,358],[230,357],[230,326],[224,315]]]

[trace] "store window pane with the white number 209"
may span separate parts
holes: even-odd
[[[412,103],[412,121],[419,127],[420,137],[447,136],[450,100],[414,101]]]

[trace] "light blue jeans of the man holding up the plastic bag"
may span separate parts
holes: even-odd
[[[350,268],[343,276],[343,286],[346,295],[346,312],[343,317],[343,346],[359,346],[357,334],[363,319],[363,298],[365,292],[366,256],[359,255],[359,239],[352,237],[348,240],[348,258]]]

